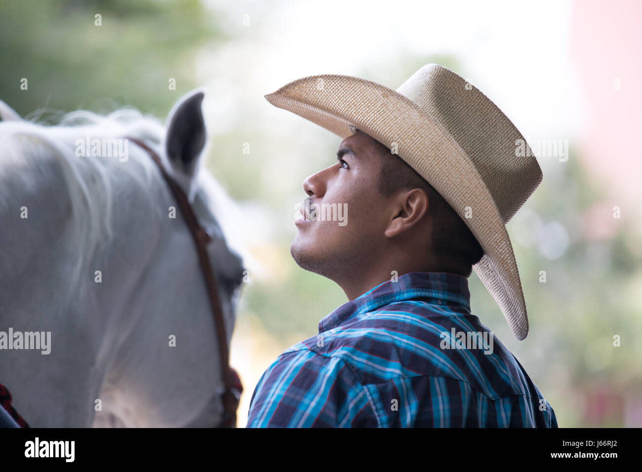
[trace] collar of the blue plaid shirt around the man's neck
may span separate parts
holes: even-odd
[[[361,313],[377,310],[392,302],[417,298],[471,311],[471,293],[468,290],[468,279],[464,275],[450,272],[408,272],[397,277],[397,281],[385,281],[334,310],[320,320],[319,333],[336,328]]]

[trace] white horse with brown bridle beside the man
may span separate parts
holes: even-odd
[[[214,217],[224,191],[200,165],[203,98],[177,101],[167,128],[134,110],[43,126],[0,101],[0,348],[9,329],[41,333],[4,344],[0,383],[30,426],[220,421],[216,328],[191,235],[150,155],[123,141],[160,155],[213,236],[229,345],[244,270]]]

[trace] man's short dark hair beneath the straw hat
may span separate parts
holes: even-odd
[[[390,197],[403,189],[424,189],[428,194],[428,211],[434,222],[428,241],[433,257],[443,267],[443,272],[469,277],[473,272],[473,265],[478,263],[484,254],[473,232],[426,179],[401,157],[391,153],[389,148],[378,141],[376,143],[386,150],[382,153],[379,193],[384,197]]]

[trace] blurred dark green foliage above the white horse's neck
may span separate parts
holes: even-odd
[[[22,116],[125,105],[165,116],[194,88],[194,54],[218,37],[214,20],[198,0],[2,1],[0,100]]]

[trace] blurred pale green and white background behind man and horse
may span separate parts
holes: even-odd
[[[507,225],[530,334],[511,335],[474,272],[473,313],[560,426],[640,427],[641,27],[634,0],[3,1],[0,99],[39,121],[120,107],[164,118],[205,87],[208,166],[240,210],[221,223],[252,259],[231,347],[243,427],[265,369],[347,301],[290,256],[302,182],[340,139],[263,96],[312,74],[396,89],[424,64],[448,67],[512,119],[544,173]]]

